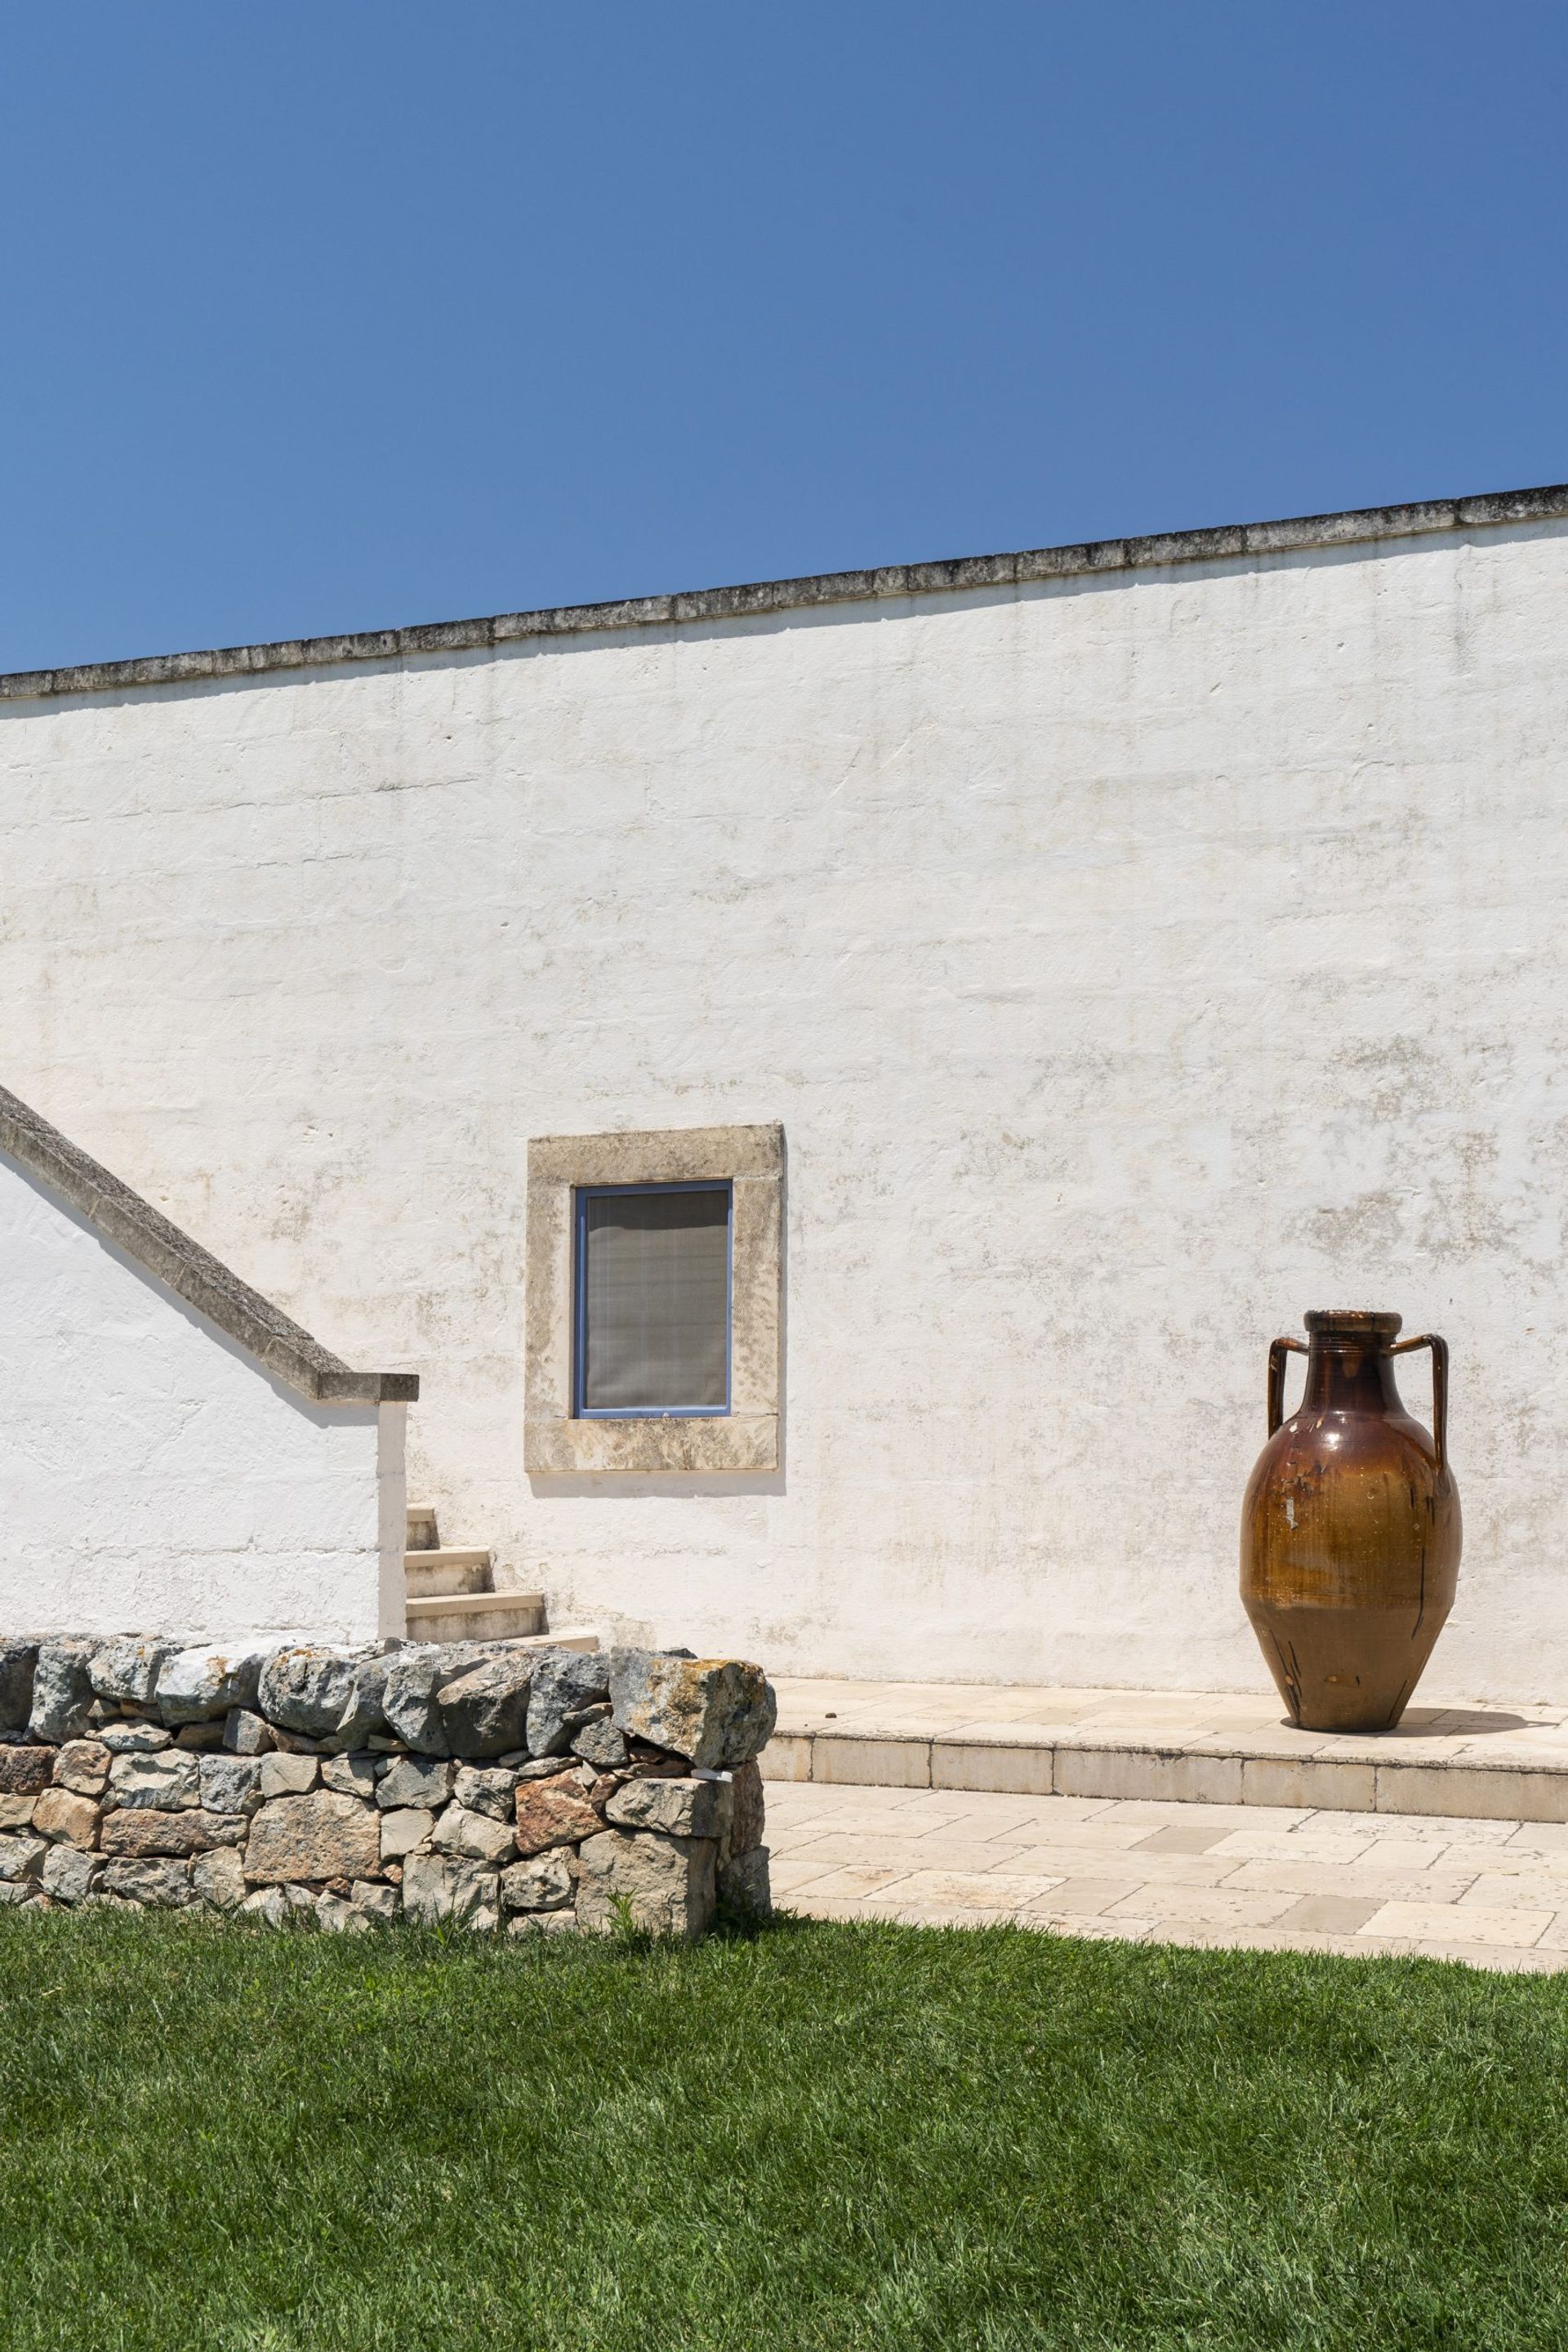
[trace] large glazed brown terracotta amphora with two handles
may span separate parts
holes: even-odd
[[[1269,1348],[1269,1442],[1241,1505],[1241,1602],[1305,1731],[1392,1731],[1460,1573],[1448,1470],[1448,1348],[1394,1345],[1399,1315],[1307,1315],[1309,1348]],[[1432,1348],[1432,1435],[1406,1414],[1394,1357]],[[1284,1421],[1286,1355],[1307,1390]]]

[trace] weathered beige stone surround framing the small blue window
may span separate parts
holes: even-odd
[[[574,1397],[574,1197],[581,1185],[733,1188],[729,1411],[583,1418]],[[783,1127],[672,1127],[529,1141],[524,1470],[778,1470]]]

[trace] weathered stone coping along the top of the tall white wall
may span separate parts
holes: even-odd
[[[463,654],[527,637],[578,637],[595,630],[665,628],[684,621],[738,621],[809,604],[867,604],[882,597],[952,595],[964,588],[1020,588],[1030,581],[1152,572],[1222,557],[1295,555],[1307,548],[1354,548],[1380,539],[1490,529],[1568,517],[1568,485],[1502,489],[1474,499],[1422,499],[1413,506],[1363,506],[1338,515],[1281,522],[1227,522],[1204,532],[1157,532],[1147,539],[1095,539],[1013,555],[959,555],[931,564],[882,564],[867,572],[818,572],[738,588],[691,588],[677,595],[623,597],[607,604],[552,604],[477,621],[430,621],[421,628],[371,628],[346,637],[284,637],[275,644],[226,644],[190,654],[143,654],[132,661],[85,661],[63,670],[9,670],[0,701],[61,694],[120,694],[127,687],[174,687],[207,677],[256,677],[268,670],[317,670],[348,661],[402,661],[416,654]]]

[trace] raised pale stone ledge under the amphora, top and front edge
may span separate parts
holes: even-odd
[[[1432,1700],[1399,1731],[1295,1731],[1269,1691],[778,1682],[771,1783],[1079,1797],[1568,1830],[1568,1708]]]

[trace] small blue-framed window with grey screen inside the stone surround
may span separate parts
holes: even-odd
[[[729,1414],[733,1188],[578,1185],[574,1209],[576,1418]]]

